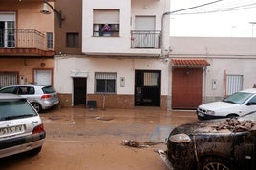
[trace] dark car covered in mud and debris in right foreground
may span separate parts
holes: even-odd
[[[256,169],[256,112],[239,118],[187,123],[167,140],[174,169]]]

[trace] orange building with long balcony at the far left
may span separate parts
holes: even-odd
[[[54,84],[54,14],[42,9],[41,0],[0,1],[0,87]]]

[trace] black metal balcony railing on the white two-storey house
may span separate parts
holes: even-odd
[[[160,49],[160,30],[132,30],[131,48]]]

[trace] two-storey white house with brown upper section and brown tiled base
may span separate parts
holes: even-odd
[[[169,0],[55,3],[65,17],[56,28],[55,87],[61,104],[167,108],[170,70],[160,55],[169,49],[169,16],[162,19]]]

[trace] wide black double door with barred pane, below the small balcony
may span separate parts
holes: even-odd
[[[135,71],[135,105],[160,106],[160,71]]]

